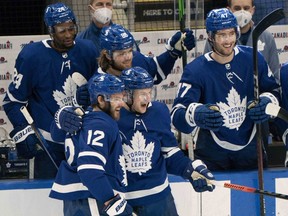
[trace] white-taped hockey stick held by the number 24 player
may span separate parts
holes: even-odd
[[[56,167],[56,169],[58,170],[58,166],[55,162],[55,160],[53,159],[53,157],[51,156],[50,152],[48,151],[48,144],[46,142],[46,140],[44,139],[43,135],[41,134],[41,132],[39,131],[38,128],[36,128],[33,118],[31,117],[31,115],[29,114],[27,108],[25,106],[22,106],[20,108],[20,111],[22,112],[22,114],[24,115],[26,121],[28,122],[28,124],[32,127],[36,137],[38,138],[41,148],[44,149],[44,151],[47,153],[48,157],[50,158],[50,160],[52,161],[52,163],[54,164],[54,166]]]

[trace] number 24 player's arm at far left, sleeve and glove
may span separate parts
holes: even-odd
[[[25,48],[24,48],[25,49]],[[24,50],[23,49],[23,50]],[[13,125],[10,137],[16,143],[19,157],[30,159],[37,154],[37,143],[39,143],[34,130],[26,121],[20,108],[28,104],[34,86],[33,63],[20,52],[16,59],[13,81],[9,84],[3,101],[4,111]],[[29,61],[29,63],[27,63]]]

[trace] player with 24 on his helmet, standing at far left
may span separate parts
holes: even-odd
[[[10,136],[16,142],[18,156],[35,156],[35,178],[54,178],[56,168],[49,157],[36,147],[39,141],[20,112],[27,106],[57,164],[64,159],[64,145],[52,141],[50,124],[55,112],[72,105],[77,85],[72,74],[87,79],[97,69],[96,48],[91,41],[74,41],[77,34],[73,11],[62,3],[47,6],[44,21],[51,39],[26,45],[19,53],[14,78],[4,98],[4,110],[14,129]]]

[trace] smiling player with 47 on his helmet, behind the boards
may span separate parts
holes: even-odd
[[[269,102],[278,104],[279,85],[258,53],[261,94],[259,103],[252,106],[253,52],[250,47],[235,45],[240,34],[236,17],[226,8],[212,10],[206,30],[213,52],[184,68],[171,111],[172,123],[183,133],[194,130],[195,158],[210,170],[255,169],[255,123],[268,120],[265,107]]]

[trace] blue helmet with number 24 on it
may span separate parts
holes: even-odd
[[[76,24],[76,18],[73,11],[63,3],[56,3],[48,5],[44,12],[44,21],[49,29],[52,30],[53,26],[72,21]]]

